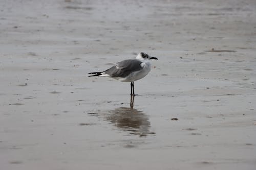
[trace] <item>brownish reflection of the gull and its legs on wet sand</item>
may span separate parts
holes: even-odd
[[[119,107],[110,110],[105,119],[123,131],[129,131],[131,135],[146,136],[155,134],[150,132],[150,122],[148,116],[140,110],[133,108],[134,95],[131,95],[129,107]]]

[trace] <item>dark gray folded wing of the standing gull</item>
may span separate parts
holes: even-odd
[[[142,62],[139,60],[123,60],[117,63],[116,66],[111,67],[104,71],[105,74],[110,75],[111,77],[126,77],[131,74],[133,71],[141,70]]]

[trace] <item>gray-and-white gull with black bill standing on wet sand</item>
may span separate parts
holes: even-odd
[[[146,53],[139,53],[135,59],[123,60],[105,71],[90,72],[89,74],[92,74],[92,76],[110,77],[121,82],[131,82],[131,95],[135,95],[134,81],[142,79],[150,72],[151,59],[158,60],[156,57],[151,57]]]

